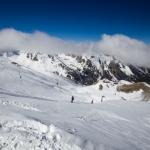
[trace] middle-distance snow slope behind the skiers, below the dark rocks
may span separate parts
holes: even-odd
[[[62,71],[60,70],[61,67],[59,67],[57,62],[53,65],[47,63],[45,65],[41,62],[34,63],[30,59],[26,60],[26,58],[24,60],[22,56],[20,57],[21,58],[17,58],[18,60],[16,60],[19,65],[12,64],[12,58],[11,60],[1,58],[3,61],[1,61],[0,64],[2,70],[0,74],[0,84],[3,85],[4,89],[7,89],[7,91],[3,91],[5,93],[11,92],[12,95],[17,93],[18,95],[25,95],[26,97],[34,97],[36,95],[35,97],[42,97],[43,99],[49,98],[51,100],[55,100],[55,96],[57,95],[57,93],[59,93],[56,99],[57,101],[68,101],[70,100],[70,97],[74,95],[76,97],[76,102],[86,103],[91,103],[92,100],[94,100],[94,103],[99,103],[102,99],[143,99],[142,91],[137,91],[129,94],[118,92],[118,84],[114,84],[113,81],[109,81],[106,79],[99,80],[96,84],[93,84],[91,86],[75,84],[69,79],[64,78],[64,76],[59,77],[58,75],[53,73],[53,69],[57,69],[59,73]],[[44,57],[44,59],[46,58]],[[23,63],[25,65],[23,65]],[[62,72],[65,74],[65,70],[63,71]],[[7,83],[3,83],[3,81],[5,81],[6,79]],[[123,83],[123,81],[119,82],[119,84],[121,83]],[[125,83],[129,84],[129,82]],[[99,89],[100,85],[102,85],[102,90]]]

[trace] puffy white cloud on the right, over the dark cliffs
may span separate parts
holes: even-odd
[[[104,34],[95,44],[94,51],[116,56],[126,63],[150,67],[150,46],[124,35]]]

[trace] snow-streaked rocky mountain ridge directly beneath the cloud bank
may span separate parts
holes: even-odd
[[[55,73],[83,85],[92,85],[101,79],[150,83],[150,68],[125,64],[104,54],[88,57],[73,54],[48,55],[15,51],[11,53],[3,55],[14,64],[46,75]]]

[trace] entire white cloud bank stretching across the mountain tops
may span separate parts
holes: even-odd
[[[0,30],[0,50],[24,50],[41,53],[105,53],[139,66],[150,67],[150,46],[125,35],[106,35],[97,42],[74,42],[35,31],[25,33],[15,29]]]

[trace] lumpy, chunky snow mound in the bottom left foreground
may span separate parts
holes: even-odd
[[[3,150],[80,150],[73,144],[64,141],[68,133],[54,125],[47,126],[31,120],[10,120],[0,124],[0,149]]]

